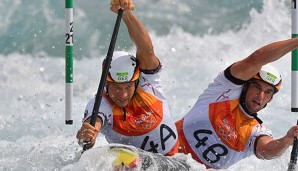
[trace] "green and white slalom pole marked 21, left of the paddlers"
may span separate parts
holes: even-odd
[[[73,0],[65,0],[65,124],[73,124]]]

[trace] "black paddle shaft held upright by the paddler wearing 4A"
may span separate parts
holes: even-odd
[[[108,50],[107,56],[104,60],[105,61],[104,66],[103,66],[104,69],[102,71],[99,86],[98,86],[98,90],[97,90],[97,93],[96,93],[96,96],[95,96],[95,102],[94,102],[92,116],[91,116],[91,120],[90,120],[90,124],[92,126],[95,126],[96,117],[97,117],[98,110],[99,110],[99,107],[100,107],[100,104],[101,104],[102,93],[103,93],[104,86],[106,84],[107,76],[108,76],[108,73],[109,73],[109,68],[110,68],[110,65],[111,65],[113,52],[114,52],[114,48],[115,48],[115,44],[116,44],[116,40],[117,40],[117,35],[118,35],[118,31],[119,31],[119,27],[120,27],[120,23],[121,23],[121,19],[122,19],[122,14],[123,14],[123,10],[120,8],[118,10],[117,20],[116,20],[116,23],[115,23],[115,26],[114,26],[114,31],[113,31],[113,34],[112,34],[109,50]],[[88,144],[84,145],[84,147],[83,147],[84,151],[87,149],[87,145]]]

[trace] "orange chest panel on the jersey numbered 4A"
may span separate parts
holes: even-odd
[[[105,95],[105,97],[107,97]],[[112,105],[113,130],[126,136],[139,136],[154,130],[163,119],[162,102],[141,88],[137,88],[136,95],[124,110],[116,106],[109,97]]]

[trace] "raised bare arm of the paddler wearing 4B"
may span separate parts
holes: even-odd
[[[233,64],[231,74],[238,79],[249,80],[258,73],[263,65],[280,59],[296,48],[298,48],[298,38],[268,44]]]

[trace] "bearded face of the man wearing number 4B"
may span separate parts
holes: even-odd
[[[271,85],[260,80],[251,80],[245,98],[248,111],[257,113],[263,109],[272,100],[273,94],[274,87]]]

